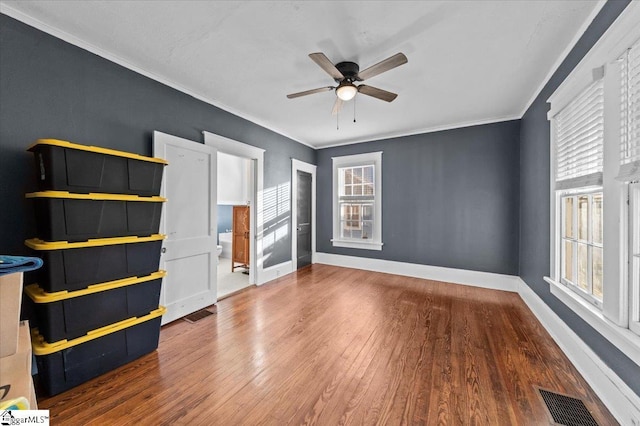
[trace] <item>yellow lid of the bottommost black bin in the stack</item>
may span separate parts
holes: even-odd
[[[31,346],[33,348],[34,355],[49,355],[55,352],[59,352],[64,349],[69,349],[73,346],[80,345],[85,342],[89,342],[94,339],[98,339],[100,337],[106,336],[111,333],[115,333],[116,331],[124,330],[125,328],[133,327],[134,325],[141,324],[145,321],[152,320],[154,318],[161,317],[164,313],[167,312],[167,308],[164,306],[159,306],[158,309],[151,311],[148,315],[142,317],[134,317],[129,318],[120,322],[116,322],[106,327],[96,328],[95,330],[91,330],[84,336],[80,336],[78,338],[72,340],[59,340],[55,343],[47,343],[44,341],[44,337],[38,333],[37,328],[31,329]]]

